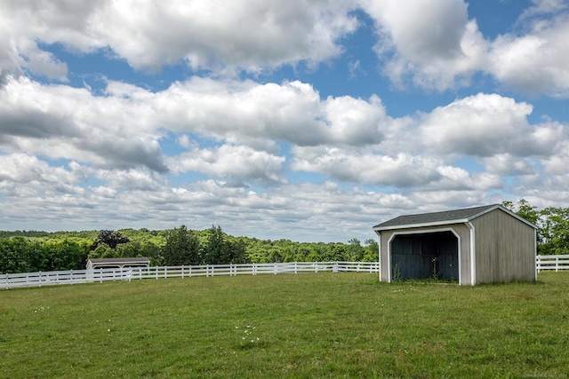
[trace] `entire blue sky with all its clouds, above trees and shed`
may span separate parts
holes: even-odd
[[[8,0],[0,230],[360,241],[569,207],[566,0]]]

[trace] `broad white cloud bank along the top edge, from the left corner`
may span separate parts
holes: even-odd
[[[257,72],[299,62],[317,65],[338,57],[342,51],[338,41],[357,28],[349,13],[355,6],[327,0],[187,4],[25,0],[4,4],[0,20],[10,26],[4,36],[13,45],[4,54],[6,60],[24,57],[30,69],[57,78],[65,73],[64,65],[38,51],[37,41],[61,43],[69,51],[83,53],[109,47],[137,69],[159,70],[186,60],[195,69]],[[13,63],[6,66],[7,72],[19,70]]]

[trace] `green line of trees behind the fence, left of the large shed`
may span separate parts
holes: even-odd
[[[88,259],[112,257],[148,257],[151,265],[377,260],[377,242],[365,244],[234,237],[219,225],[203,231],[185,225],[160,231],[0,231],[0,273],[82,270]]]

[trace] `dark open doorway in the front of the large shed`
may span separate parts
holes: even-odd
[[[459,241],[453,232],[397,234],[390,251],[392,280],[459,280]]]

